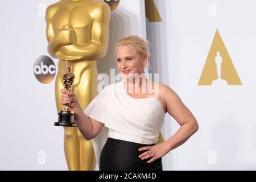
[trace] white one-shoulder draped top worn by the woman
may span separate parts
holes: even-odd
[[[92,139],[97,164],[108,137],[141,144],[156,143],[165,115],[159,100],[131,97],[123,81],[101,90],[84,113],[105,125]]]

